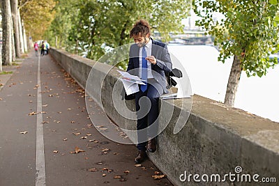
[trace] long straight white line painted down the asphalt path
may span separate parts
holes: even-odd
[[[42,91],[40,88],[40,54],[37,78],[36,186],[45,185],[45,147],[43,141]]]

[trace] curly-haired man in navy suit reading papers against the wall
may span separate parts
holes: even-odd
[[[146,148],[151,153],[156,151],[158,100],[160,95],[168,93],[165,72],[172,70],[167,45],[153,40],[150,35],[151,29],[145,20],[137,21],[130,31],[130,38],[134,39],[135,44],[130,47],[127,72],[137,75],[147,82],[146,85],[140,85],[140,91],[135,93],[138,139],[136,163],[146,159]],[[151,105],[148,100],[141,99],[143,97],[147,97]],[[144,116],[148,107],[150,110]],[[148,132],[146,132],[146,127],[148,127]],[[146,143],[146,141],[148,142]]]

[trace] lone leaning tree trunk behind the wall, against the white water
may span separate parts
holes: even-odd
[[[240,56],[234,56],[234,62],[232,63],[231,72],[229,74],[229,81],[227,82],[227,91],[225,95],[225,104],[234,106],[234,100],[237,88],[239,86],[239,80],[241,76],[241,61]]]

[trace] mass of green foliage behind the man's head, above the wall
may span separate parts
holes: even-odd
[[[131,42],[130,29],[139,19],[148,20],[152,30],[167,40],[169,31],[182,31],[181,19],[189,8],[190,0],[59,0],[49,34],[63,33],[66,39],[61,47],[70,52],[78,48],[79,54],[87,52],[88,58],[99,59],[111,48]]]

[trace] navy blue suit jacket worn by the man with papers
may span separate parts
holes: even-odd
[[[152,75],[156,82],[158,82],[162,87],[164,93],[167,91],[167,82],[165,79],[165,72],[172,71],[172,61],[167,50],[167,45],[163,42],[152,40],[151,55],[156,58],[157,63],[155,65],[151,64]],[[139,55],[140,47],[137,44],[133,44],[130,47],[129,53],[129,63],[127,72],[131,75],[139,75]]]

